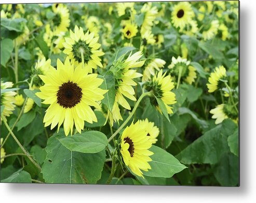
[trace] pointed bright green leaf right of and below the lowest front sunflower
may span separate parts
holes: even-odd
[[[149,162],[151,170],[143,171],[145,176],[171,178],[175,173],[186,168],[177,158],[159,147],[153,145],[150,151],[154,152],[150,156],[152,158],[152,161]]]

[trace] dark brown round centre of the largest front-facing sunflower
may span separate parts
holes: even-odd
[[[82,89],[76,83],[65,82],[59,87],[57,103],[64,108],[72,108],[82,98]]]

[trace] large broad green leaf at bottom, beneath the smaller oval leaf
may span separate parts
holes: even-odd
[[[47,183],[96,183],[101,177],[106,153],[85,154],[66,149],[53,135],[47,141],[47,156],[42,166]]]

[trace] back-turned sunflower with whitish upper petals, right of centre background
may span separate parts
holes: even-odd
[[[172,56],[171,64],[168,66],[171,74],[178,78],[178,81],[185,81],[188,84],[192,84],[196,78],[196,69],[190,65],[190,61],[182,59],[180,56]],[[179,79],[180,78],[180,79]]]

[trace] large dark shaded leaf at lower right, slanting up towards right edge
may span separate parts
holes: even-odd
[[[200,136],[176,157],[184,164],[216,164],[228,152],[227,136],[234,132],[234,122],[225,120]]]

